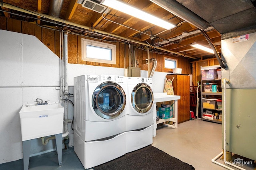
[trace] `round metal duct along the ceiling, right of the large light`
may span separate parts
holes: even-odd
[[[194,12],[190,11],[188,8],[177,2],[176,0],[150,0],[151,2],[157,4],[158,6],[164,8],[165,10],[171,12],[172,14],[182,18],[185,21],[193,24],[199,29],[206,29],[210,27],[210,24],[202,19],[200,16],[196,15]]]

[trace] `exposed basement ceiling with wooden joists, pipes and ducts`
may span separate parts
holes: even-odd
[[[255,0],[122,0],[175,24],[176,27],[171,30],[165,30],[111,8],[106,12],[95,12],[82,7],[84,0],[1,1],[3,3],[0,15],[8,18],[34,21],[39,25],[57,25],[59,29],[67,28],[102,40],[114,41],[111,37],[126,39],[142,47],[152,47],[152,51],[192,59],[214,57],[190,46],[196,42],[210,47],[196,22],[205,22],[201,29],[206,31],[218,53],[222,33],[256,25]],[[101,2],[93,1],[98,4]],[[178,3],[180,8],[172,9],[172,3]]]

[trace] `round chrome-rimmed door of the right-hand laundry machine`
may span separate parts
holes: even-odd
[[[139,113],[148,112],[153,105],[153,92],[148,84],[140,83],[132,90],[131,102]]]

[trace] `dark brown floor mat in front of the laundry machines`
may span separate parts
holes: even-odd
[[[195,168],[155,147],[147,146],[94,167],[95,170],[194,170]]]

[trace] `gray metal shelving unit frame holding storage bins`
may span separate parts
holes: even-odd
[[[205,69],[210,69],[210,68],[220,68],[220,65],[213,65],[213,66],[201,66],[201,70],[205,70]],[[222,97],[222,92],[204,92],[204,83],[207,82],[216,82],[217,84],[220,84],[221,86],[221,79],[212,79],[212,80],[202,80],[202,75],[201,75],[201,116],[202,116],[202,120],[203,121],[210,121],[210,122],[215,122],[215,123],[222,123],[222,120],[220,119],[213,119],[213,120],[208,120],[208,119],[204,119],[203,117],[203,113],[206,110],[210,110],[213,112],[217,112],[217,113],[222,113],[221,109],[209,109],[209,108],[204,108],[203,107],[203,99],[206,98],[206,96],[208,97],[215,97],[215,98],[220,98]],[[221,89],[221,88],[220,88]]]

